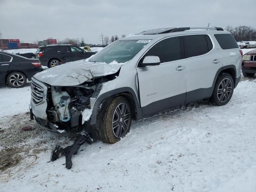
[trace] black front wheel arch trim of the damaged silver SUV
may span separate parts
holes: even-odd
[[[135,108],[136,108],[136,119],[142,118],[142,108],[140,108],[140,104],[139,104],[138,98],[137,98],[134,90],[130,87],[122,87],[122,88],[108,91],[108,92],[103,93],[100,96],[98,96],[98,98],[96,99],[96,101],[94,103],[93,109],[92,109],[92,116],[91,116],[91,120],[90,120],[91,126],[94,126],[96,124],[97,116],[99,113],[98,109],[99,109],[100,104],[102,104],[104,101],[110,101],[115,96],[120,95],[120,94],[130,94],[130,96],[132,96],[132,99],[134,100],[134,104],[135,104]]]

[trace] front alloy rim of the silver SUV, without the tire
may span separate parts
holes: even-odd
[[[115,111],[112,118],[112,129],[113,133],[117,138],[123,137],[130,126],[131,113],[126,103],[120,103]]]

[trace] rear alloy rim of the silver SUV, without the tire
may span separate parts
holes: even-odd
[[[226,102],[232,93],[232,82],[229,78],[223,79],[218,87],[218,99],[220,102]]]

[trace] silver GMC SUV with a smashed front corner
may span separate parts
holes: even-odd
[[[242,51],[222,28],[162,28],[127,36],[90,59],[32,78],[31,118],[48,130],[84,130],[115,143],[139,119],[210,98],[229,102]]]

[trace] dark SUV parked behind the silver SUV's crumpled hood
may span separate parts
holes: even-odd
[[[53,67],[66,62],[86,59],[95,52],[85,52],[74,45],[47,45],[38,49],[38,58],[43,66]]]

